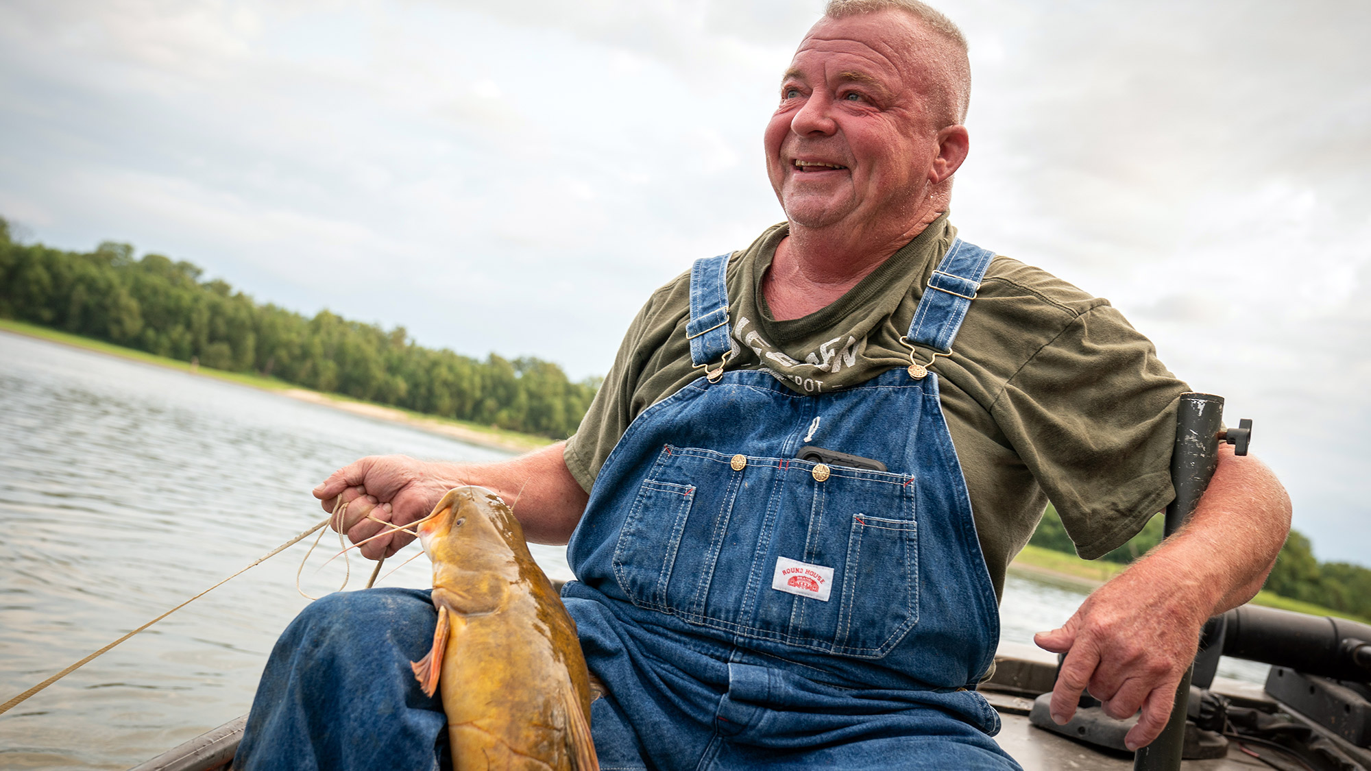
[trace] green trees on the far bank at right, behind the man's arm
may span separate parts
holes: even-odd
[[[1101,560],[1132,562],[1161,543],[1161,536],[1163,517],[1152,517],[1138,535]],[[1052,506],[1047,506],[1047,513],[1043,514],[1028,543],[1053,551],[1076,553],[1061,517]],[[1290,531],[1285,546],[1281,547],[1264,589],[1281,597],[1371,619],[1371,569],[1350,562],[1320,562],[1313,556],[1309,539],[1297,530]]]

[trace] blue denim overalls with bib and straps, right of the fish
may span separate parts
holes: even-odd
[[[910,343],[951,348],[991,257],[953,243]],[[912,355],[801,395],[723,372],[727,261],[691,270],[705,376],[633,420],[568,546],[600,767],[1017,768],[975,691],[999,613],[936,375]]]

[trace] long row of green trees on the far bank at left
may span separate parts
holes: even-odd
[[[403,327],[259,305],[226,281],[203,280],[191,262],[134,259],[129,244],[106,241],[92,252],[21,244],[3,218],[0,318],[554,439],[576,431],[600,380],[573,383],[536,358],[425,348]]]

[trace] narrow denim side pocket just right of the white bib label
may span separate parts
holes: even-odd
[[[836,652],[880,657],[919,621],[919,524],[853,514]]]

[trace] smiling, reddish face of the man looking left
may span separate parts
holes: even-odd
[[[799,44],[766,126],[766,170],[798,225],[903,226],[938,158],[936,47],[897,11],[823,19]]]

